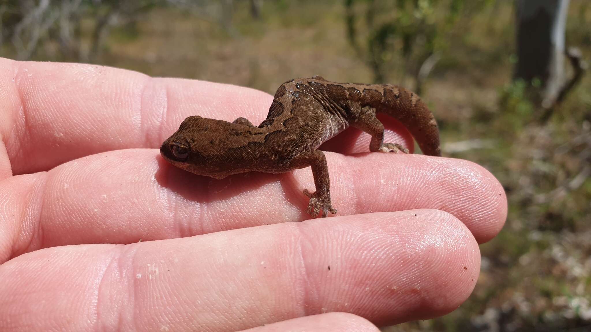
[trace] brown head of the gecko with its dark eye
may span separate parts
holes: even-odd
[[[231,172],[225,169],[226,163],[222,161],[223,145],[219,136],[228,124],[232,125],[226,121],[189,116],[163,142],[160,154],[164,160],[191,173],[225,178]]]

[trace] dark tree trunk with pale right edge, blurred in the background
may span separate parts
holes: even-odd
[[[564,30],[569,0],[517,1],[514,78],[540,82],[543,106],[553,105],[564,85]]]

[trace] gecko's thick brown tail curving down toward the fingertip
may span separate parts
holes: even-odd
[[[395,85],[382,84],[384,99],[372,105],[376,112],[385,113],[404,125],[423,154],[440,156],[439,127],[435,116],[420,97],[410,90]]]

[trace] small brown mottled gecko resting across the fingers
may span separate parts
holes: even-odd
[[[316,191],[306,213],[326,217],[330,202],[329,171],[317,148],[349,126],[372,136],[370,151],[403,152],[384,143],[384,125],[376,113],[398,119],[426,155],[441,155],[439,129],[427,105],[413,92],[388,84],[329,82],[320,76],[281,84],[267,119],[254,126],[245,118],[233,122],[189,116],[160,147],[165,160],[194,174],[221,179],[249,171],[284,173],[311,167]]]

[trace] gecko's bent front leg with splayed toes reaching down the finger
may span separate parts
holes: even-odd
[[[310,166],[312,168],[312,175],[314,176],[314,185],[316,191],[311,193],[306,189],[304,195],[310,197],[310,203],[306,213],[316,217],[322,209],[322,217],[328,216],[328,213],[336,214],[336,209],[330,203],[330,180],[329,168],[326,164],[326,157],[320,150],[312,150],[303,152],[293,158],[290,162],[290,167],[293,169],[304,168]]]

